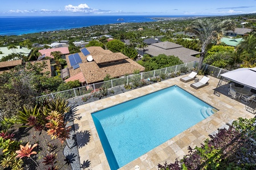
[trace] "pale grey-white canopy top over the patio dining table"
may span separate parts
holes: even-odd
[[[240,83],[243,86],[248,86],[256,89],[256,67],[241,68],[221,74],[221,76],[233,80],[233,82]]]

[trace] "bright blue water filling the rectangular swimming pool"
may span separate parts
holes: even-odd
[[[92,113],[111,169],[118,169],[204,120],[210,108],[172,86]]]

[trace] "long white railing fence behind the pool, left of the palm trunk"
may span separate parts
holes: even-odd
[[[188,67],[188,69],[191,69],[195,67],[195,62],[183,63],[181,65],[166,67],[164,69],[158,69],[158,70],[148,71],[144,73],[123,76],[122,78],[112,79],[106,82],[89,84],[86,86],[73,88],[71,90],[60,91],[60,92],[55,92],[48,95],[38,96],[37,99],[55,99],[56,97],[71,99],[73,97],[89,94],[92,91],[97,91],[101,87],[113,88],[113,87],[122,86],[124,84],[131,83],[133,82],[134,79],[148,79],[148,78],[154,78],[156,76],[160,76],[161,74],[175,73],[177,71],[180,71],[181,67]]]

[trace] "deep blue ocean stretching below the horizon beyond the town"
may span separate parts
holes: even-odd
[[[155,20],[152,18],[156,17],[179,18],[187,16],[0,16],[0,35],[22,35],[91,25],[154,22]]]

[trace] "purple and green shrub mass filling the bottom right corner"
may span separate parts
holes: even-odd
[[[188,155],[159,169],[254,169],[256,166],[255,118],[238,118],[229,130],[221,129],[201,147],[188,147]],[[233,128],[234,126],[234,128]]]

